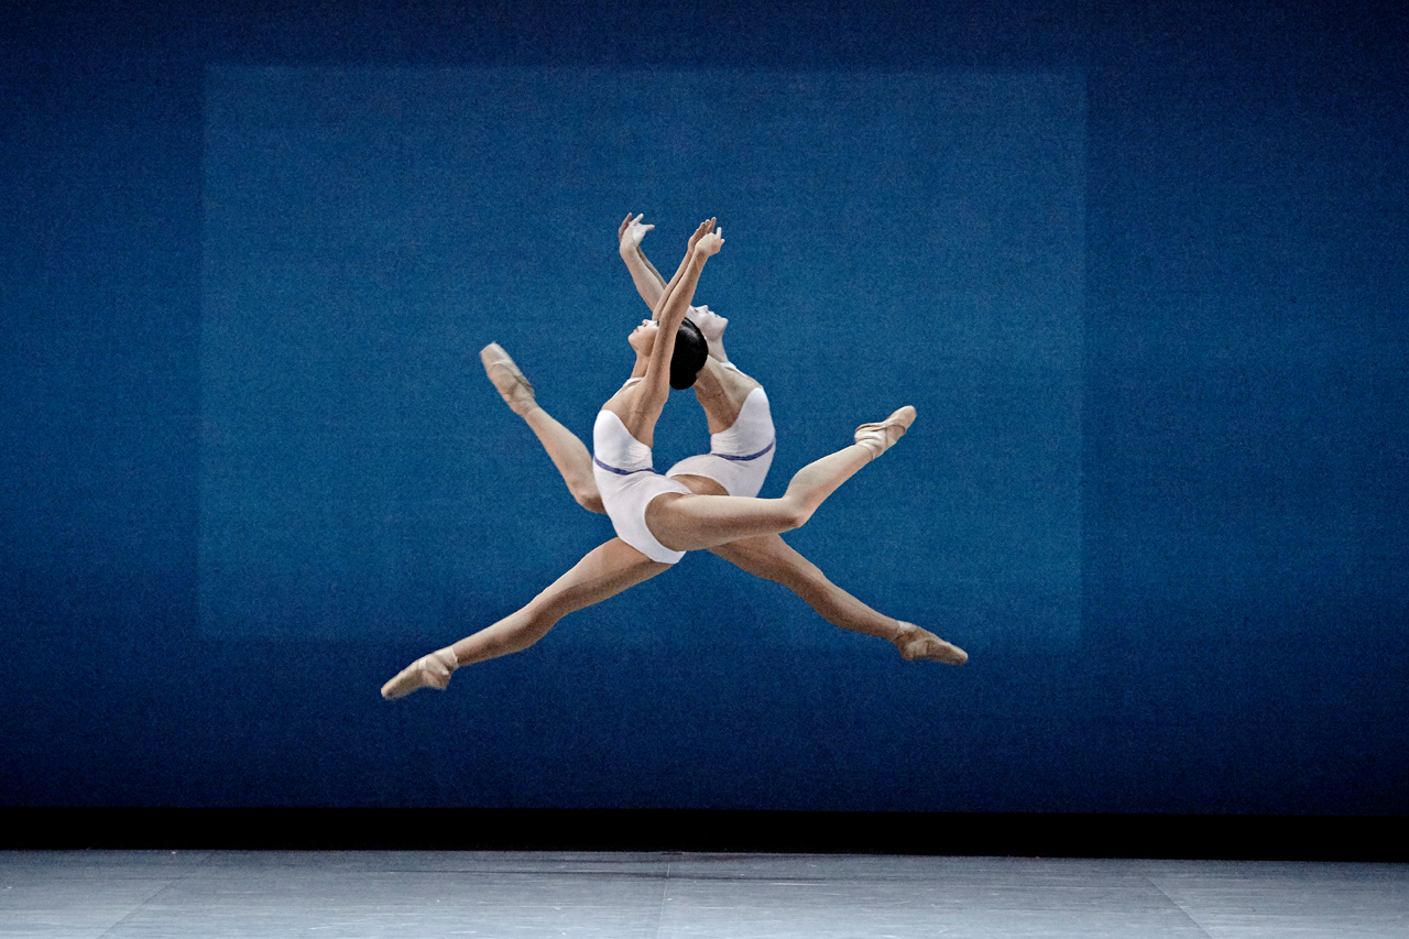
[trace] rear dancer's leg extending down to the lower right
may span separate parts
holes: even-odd
[[[776,534],[730,541],[710,551],[755,577],[786,587],[833,626],[886,640],[900,650],[906,661],[923,658],[947,665],[968,661],[968,653],[927,629],[871,609],[828,581],[816,564]]]

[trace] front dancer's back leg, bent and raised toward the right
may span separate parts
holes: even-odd
[[[906,405],[885,420],[861,424],[852,446],[809,462],[778,499],[745,496],[657,496],[645,509],[651,534],[672,551],[712,548],[738,539],[779,534],[800,527],[837,488],[885,453],[914,422]]]

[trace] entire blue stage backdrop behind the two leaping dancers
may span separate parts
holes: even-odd
[[[11,11],[7,805],[1403,814],[1403,14],[1160,4]],[[716,558],[386,704],[607,523],[662,269],[769,388],[790,541],[964,668]],[[678,395],[658,465],[704,443]]]

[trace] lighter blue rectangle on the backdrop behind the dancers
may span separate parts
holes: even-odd
[[[971,651],[1078,634],[1079,76],[211,68],[206,117],[206,636],[452,639],[610,537],[476,352],[589,437],[645,312],[628,210],[666,275],[720,219],[699,296],[774,400],[764,495],[920,412],[790,543]],[[688,392],[657,440],[657,467],[707,447]],[[706,564],[682,577],[747,579]],[[661,589],[828,642],[776,592]],[[613,603],[579,642],[659,594]]]

